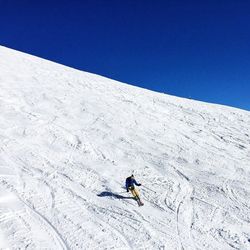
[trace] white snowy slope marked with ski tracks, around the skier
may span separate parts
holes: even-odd
[[[0,249],[250,249],[250,112],[0,47],[0,142]]]

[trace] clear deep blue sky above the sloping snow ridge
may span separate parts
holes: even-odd
[[[250,110],[249,0],[0,0],[0,44]]]

